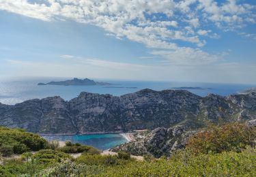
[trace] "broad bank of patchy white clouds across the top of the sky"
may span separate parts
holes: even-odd
[[[163,56],[164,59],[177,57],[174,59],[180,60],[177,63],[191,65],[197,63],[195,56],[203,61],[216,61],[218,58],[216,55],[197,49],[206,44],[205,37],[219,38],[218,34],[211,29],[196,29],[202,25],[203,27],[216,25],[224,31],[229,31],[242,28],[249,22],[255,22],[255,5],[238,4],[235,0],[223,3],[216,3],[213,0],[48,0],[48,3],[43,2],[45,1],[31,3],[28,0],[0,0],[0,10],[45,21],[70,19],[96,25],[106,30],[106,35],[113,35],[117,39],[126,37],[145,44],[148,48],[154,48],[154,52],[157,51],[156,49],[159,49],[158,52],[162,52],[163,49],[169,50],[169,54]],[[178,46],[177,40],[195,44],[195,47]],[[179,54],[179,52],[184,53]]]

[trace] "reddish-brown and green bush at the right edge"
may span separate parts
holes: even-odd
[[[241,152],[246,146],[253,147],[255,140],[255,127],[246,127],[238,123],[230,123],[222,127],[211,125],[206,131],[201,131],[190,138],[186,148],[196,154]]]

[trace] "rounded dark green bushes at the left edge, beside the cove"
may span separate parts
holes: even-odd
[[[3,156],[22,154],[47,148],[48,142],[40,135],[29,133],[23,129],[0,127],[0,153]]]

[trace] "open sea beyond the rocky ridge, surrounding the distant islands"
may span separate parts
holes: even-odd
[[[16,80],[0,79],[0,102],[15,104],[28,99],[61,96],[65,100],[77,97],[81,92],[100,93],[119,96],[127,93],[134,93],[143,88],[150,88],[155,91],[173,89],[175,87],[201,87],[203,89],[187,89],[200,96],[215,93],[218,95],[230,95],[243,91],[246,88],[255,87],[249,84],[212,84],[202,82],[145,82],[145,81],[120,81],[120,80],[96,80],[109,82],[113,86],[38,86],[38,82],[50,82],[52,80],[67,80],[70,78],[22,78]]]

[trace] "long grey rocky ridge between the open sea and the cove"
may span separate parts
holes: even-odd
[[[155,129],[205,122],[253,119],[256,93],[199,97],[188,91],[152,91],[114,97],[81,93],[70,101],[61,97],[32,99],[15,106],[0,103],[0,125],[35,133],[88,133]]]

